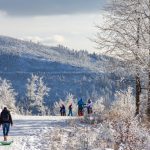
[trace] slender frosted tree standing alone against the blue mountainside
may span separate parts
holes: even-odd
[[[45,112],[44,97],[48,96],[50,89],[44,84],[43,78],[33,75],[27,83],[28,111],[33,114]]]

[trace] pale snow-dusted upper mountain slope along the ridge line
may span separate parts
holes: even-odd
[[[62,46],[48,47],[5,36],[0,36],[0,53],[84,67],[94,72],[102,72],[103,63],[110,59],[106,56],[95,57],[85,51],[73,52]]]

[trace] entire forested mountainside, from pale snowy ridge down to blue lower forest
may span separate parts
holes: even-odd
[[[43,76],[51,88],[45,99],[48,106],[65,99],[68,93],[76,98],[102,96],[113,100],[117,88],[112,80],[115,75],[104,68],[109,59],[112,58],[0,36],[0,77],[12,82],[19,102],[26,98],[27,78],[32,73]]]

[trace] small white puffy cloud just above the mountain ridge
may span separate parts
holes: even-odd
[[[35,43],[42,43],[45,45],[53,45],[53,44],[63,44],[65,42],[65,38],[62,35],[53,35],[51,37],[39,37],[39,36],[27,36],[21,38],[22,40],[32,41]]]

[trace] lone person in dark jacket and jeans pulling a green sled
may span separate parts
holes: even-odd
[[[10,111],[7,109],[7,107],[4,107],[0,114],[0,125],[2,125],[3,128],[4,141],[7,141],[10,124],[13,125]]]

